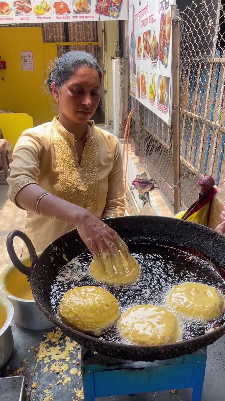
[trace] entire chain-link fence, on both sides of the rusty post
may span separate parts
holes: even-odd
[[[189,207],[198,179],[211,175],[225,188],[225,0],[193,1],[179,12],[180,200]],[[129,64],[127,66],[129,69]],[[128,85],[129,90],[129,85]],[[129,110],[135,99],[128,95]],[[173,204],[173,129],[139,105],[131,125],[131,146]],[[137,108],[137,106],[136,106]],[[134,115],[135,116],[135,115]],[[135,132],[138,118],[138,132]],[[135,137],[136,135],[136,137]]]

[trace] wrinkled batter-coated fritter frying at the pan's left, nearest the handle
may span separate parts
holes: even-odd
[[[115,296],[100,287],[84,286],[68,290],[58,307],[60,315],[74,328],[99,336],[119,316]]]

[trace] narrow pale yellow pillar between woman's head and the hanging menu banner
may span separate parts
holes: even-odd
[[[106,21],[106,52],[107,52],[107,93],[108,119],[113,121],[113,90],[112,90],[112,59],[115,57],[116,41],[119,40],[118,21]]]

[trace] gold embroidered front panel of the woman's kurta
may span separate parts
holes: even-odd
[[[59,166],[58,196],[94,213],[98,201],[98,138],[93,132],[89,138],[80,166],[74,142],[56,132]]]

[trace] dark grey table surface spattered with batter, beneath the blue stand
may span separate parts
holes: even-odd
[[[56,330],[56,329],[54,329]],[[26,391],[30,393],[27,399],[30,401],[43,401],[48,393],[44,390],[50,388],[52,399],[54,401],[63,399],[64,401],[79,400],[74,389],[79,390],[82,388],[81,377],[70,375],[71,367],[80,369],[80,365],[73,365],[71,362],[80,360],[80,346],[76,346],[70,354],[70,362],[68,363],[68,371],[65,372],[66,377],[70,376],[71,381],[67,385],[62,383],[56,385],[57,376],[55,372],[43,371],[45,363],[44,360],[36,361],[36,353],[39,348],[40,342],[45,341],[43,338],[43,330],[26,330],[16,324],[12,324],[12,331],[14,336],[14,352],[0,371],[0,377],[8,375],[22,374],[25,376]],[[49,330],[51,331],[51,330]],[[60,338],[62,347],[66,340],[64,335]],[[71,340],[72,341],[72,340]],[[221,337],[217,342],[207,347],[207,367],[205,372],[205,381],[203,387],[202,401],[212,401],[213,399],[223,401],[225,399],[225,336]],[[52,361],[54,363],[54,361]],[[32,383],[38,383],[38,387],[32,393]],[[79,394],[78,394],[79,395]],[[137,394],[131,396],[117,396],[110,398],[102,398],[102,401],[190,401],[191,389],[179,390],[176,393],[171,391],[163,391],[151,394]]]

